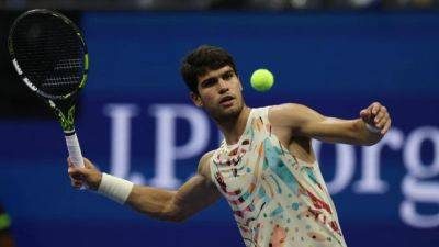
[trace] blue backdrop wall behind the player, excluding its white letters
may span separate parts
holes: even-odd
[[[325,115],[358,117],[373,101],[385,104],[394,128],[408,136],[423,126],[438,128],[439,15],[436,13],[244,13],[88,12],[81,29],[91,69],[81,96],[77,131],[85,156],[110,170],[109,103],[139,108],[132,119],[131,171],[154,176],[153,104],[190,104],[180,79],[181,58],[201,44],[228,49],[235,57],[250,106],[297,102]],[[257,68],[275,75],[271,91],[249,87]],[[210,145],[217,131],[211,122]],[[189,128],[180,123],[177,142]],[[13,220],[19,246],[244,246],[227,203],[221,200],[183,224],[147,218],[94,193],[75,191],[67,177],[66,148],[55,121],[0,122],[0,199]],[[439,145],[439,144],[438,144]],[[424,164],[439,153],[421,146]],[[319,155],[326,180],[335,176],[333,145]],[[351,182],[334,194],[348,246],[438,246],[438,227],[417,228],[401,220],[407,175],[403,148],[383,148],[384,193],[359,193],[361,147],[356,147]],[[185,180],[199,156],[176,161]],[[438,184],[439,175],[427,180]],[[439,193],[439,186],[438,193]],[[419,205],[438,214],[439,204]]]

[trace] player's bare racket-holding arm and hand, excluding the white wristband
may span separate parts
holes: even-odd
[[[128,187],[131,191],[124,204],[161,221],[182,222],[187,220],[213,204],[221,197],[210,177],[209,159],[211,156],[212,153],[207,153],[201,158],[196,175],[177,191],[134,184]],[[80,188],[86,183],[91,190],[102,190],[102,173],[88,159],[85,159],[85,164],[86,168],[77,168],[69,161],[72,186]],[[120,181],[127,183],[123,180]]]

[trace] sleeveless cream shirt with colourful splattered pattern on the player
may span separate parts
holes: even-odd
[[[345,247],[318,162],[297,159],[271,133],[269,108],[252,109],[238,143],[210,168],[247,247]]]

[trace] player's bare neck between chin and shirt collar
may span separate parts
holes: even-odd
[[[237,117],[217,122],[227,145],[236,144],[239,141],[239,137],[243,135],[246,128],[249,115],[250,109],[247,105],[244,105]]]

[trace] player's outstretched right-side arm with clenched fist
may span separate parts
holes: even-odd
[[[270,121],[275,126],[291,130],[292,135],[356,145],[378,143],[391,126],[386,108],[378,102],[361,110],[359,115],[359,119],[341,120],[324,116],[305,105],[290,103],[273,106]]]

